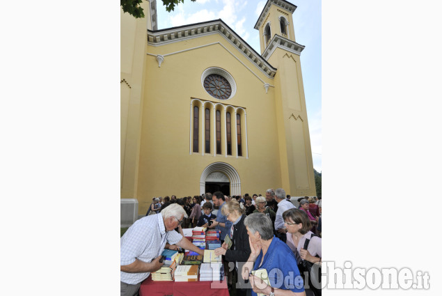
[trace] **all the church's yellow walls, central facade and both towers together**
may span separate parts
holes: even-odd
[[[150,15],[148,2],[142,5]],[[271,22],[279,30],[278,9],[269,10],[269,19],[274,18]],[[299,56],[276,49],[269,63],[278,70],[271,78],[217,31],[154,46],[147,42],[148,23],[121,15],[121,198],[136,198],[143,215],[153,196],[199,195],[203,171],[216,162],[237,171],[240,194],[264,195],[266,189],[283,187],[292,196],[315,195]],[[289,27],[294,40],[292,24]],[[161,67],[157,55],[164,56]],[[235,79],[233,98],[216,100],[205,91],[201,77],[212,67],[226,70]],[[267,93],[264,84],[270,84]],[[221,128],[221,155],[215,154],[213,138],[211,153],[203,153],[203,128],[199,151],[193,152],[192,100],[242,108],[238,109],[242,156],[234,152],[233,116],[232,156],[225,155],[225,127]],[[204,110],[199,111],[201,122]],[[211,125],[213,115],[211,111]],[[223,112],[221,117],[224,120]]]

